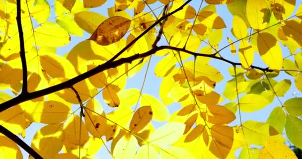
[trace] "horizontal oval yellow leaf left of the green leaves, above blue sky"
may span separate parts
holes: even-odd
[[[254,112],[267,106],[269,101],[258,94],[246,94],[239,98],[239,107],[243,112]]]

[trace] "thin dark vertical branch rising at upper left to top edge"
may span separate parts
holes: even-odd
[[[17,0],[17,25],[18,25],[18,33],[19,33],[19,41],[20,41],[20,59],[22,63],[22,91],[21,94],[27,94],[27,65],[26,65],[26,57],[25,57],[25,47],[24,47],[24,37],[23,37],[23,29],[21,23],[21,0]]]

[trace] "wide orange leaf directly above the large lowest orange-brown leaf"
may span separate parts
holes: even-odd
[[[207,107],[211,112],[211,115],[208,115],[208,122],[212,124],[228,124],[236,119],[236,116],[224,106],[209,104]]]

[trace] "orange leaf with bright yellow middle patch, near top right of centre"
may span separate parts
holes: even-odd
[[[224,20],[213,11],[201,11],[198,13],[198,20],[208,28],[222,29],[226,27]]]

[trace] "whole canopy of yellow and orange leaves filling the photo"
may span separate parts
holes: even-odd
[[[172,12],[185,0],[115,0],[114,6],[107,8],[109,17],[89,10],[104,9],[102,5],[107,0],[55,0],[55,22],[49,19],[53,11],[49,2],[21,0],[29,92],[73,79],[104,64],[162,16],[146,12],[151,4],[159,8],[165,4],[167,12]],[[220,4],[227,6],[232,19],[223,19],[218,14]],[[147,57],[73,85],[81,101],[71,88],[66,88],[0,112],[0,124],[22,137],[32,122],[46,124],[34,135],[31,147],[50,159],[93,159],[101,147],[115,159],[232,159],[239,148],[240,159],[295,159],[281,134],[285,128],[289,141],[302,148],[301,97],[288,99],[281,103],[282,107],[274,108],[267,122],[248,120],[239,126],[230,123],[239,118],[238,111],[261,110],[275,97],[285,96],[291,80],[274,79],[282,68],[295,78],[295,86],[302,91],[302,52],[296,52],[302,48],[299,5],[293,18],[296,0],[205,0],[200,10],[189,3],[166,19],[162,39],[171,47],[202,55],[217,52],[222,46],[223,32],[231,31],[236,41],[227,40],[233,55],[238,50],[242,67],[229,69],[233,79],[227,81],[222,94],[215,87],[224,77],[209,64],[211,58],[197,56],[193,61],[183,51],[163,49],[155,53],[161,60],[154,69],[155,76],[162,78],[161,101],[137,88],[125,88],[127,78],[135,76],[151,60]],[[133,10],[134,16],[129,10]],[[0,88],[17,95],[23,81],[15,0],[0,0],[0,16]],[[226,25],[227,20],[232,20],[232,26]],[[117,60],[154,48],[158,26]],[[91,34],[90,38],[76,44],[64,56],[56,54],[56,47],[71,41],[70,35],[82,36],[83,31]],[[289,48],[294,61],[283,59],[281,43]],[[252,68],[255,53],[274,72],[264,74]],[[112,111],[106,112],[107,106],[102,107],[96,98],[100,91]],[[11,98],[0,92],[0,103]],[[75,109],[79,109],[81,102],[84,112],[77,115]],[[170,114],[167,105],[175,102],[181,108]],[[157,128],[154,121],[165,124]],[[0,138],[3,158],[22,158],[15,143],[1,134]]]

